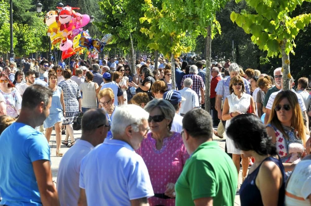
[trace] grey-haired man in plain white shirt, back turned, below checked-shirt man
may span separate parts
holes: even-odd
[[[188,111],[193,108],[199,108],[200,102],[197,93],[192,90],[193,81],[191,78],[183,80],[183,89],[179,90],[182,97],[186,100],[181,102],[180,115],[184,116]]]

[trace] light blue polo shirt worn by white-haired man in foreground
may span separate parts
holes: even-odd
[[[107,138],[82,159],[79,186],[87,205],[125,206],[154,195],[142,157],[125,141]]]

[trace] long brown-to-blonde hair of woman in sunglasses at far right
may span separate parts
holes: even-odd
[[[306,133],[304,130],[305,129],[304,128],[304,118],[302,117],[302,113],[301,113],[300,105],[298,103],[297,95],[294,92],[292,92],[290,90],[285,90],[285,91],[279,92],[276,95],[276,97],[273,101],[271,115],[269,117],[268,123],[271,123],[273,126],[275,126],[278,130],[280,130],[282,132],[282,134],[284,135],[284,137],[286,139],[289,139],[288,135],[286,134],[286,132],[284,131],[284,129],[282,127],[280,120],[277,118],[276,110],[274,109],[274,107],[276,105],[278,105],[280,103],[280,101],[282,101],[282,99],[284,99],[284,98],[287,98],[287,100],[289,101],[289,104],[290,104],[290,108],[293,109],[293,116],[291,118],[291,127],[293,127],[298,132],[299,138],[304,142],[304,145],[305,145]]]

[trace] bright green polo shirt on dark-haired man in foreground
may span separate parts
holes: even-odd
[[[238,173],[229,155],[217,142],[201,144],[186,161],[176,184],[175,205],[194,205],[193,200],[213,197],[214,205],[234,205]]]

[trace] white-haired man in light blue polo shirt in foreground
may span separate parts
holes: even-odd
[[[147,205],[154,196],[142,157],[135,153],[149,131],[149,114],[137,105],[114,113],[113,139],[95,147],[81,162],[78,205]]]

